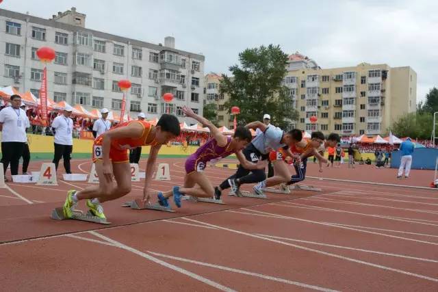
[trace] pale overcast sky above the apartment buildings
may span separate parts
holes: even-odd
[[[164,42],[205,55],[205,72],[228,72],[247,47],[280,44],[322,68],[361,62],[411,66],[417,101],[438,86],[438,1],[3,0],[1,8],[50,18],[71,7],[86,27]]]

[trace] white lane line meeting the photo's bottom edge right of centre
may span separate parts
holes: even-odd
[[[215,228],[216,229],[216,228]],[[244,274],[244,275],[248,275],[248,276],[254,276],[257,278],[262,278],[265,280],[272,280],[275,282],[281,282],[281,283],[285,283],[285,284],[292,284],[292,285],[296,285],[298,287],[303,287],[303,288],[307,288],[307,289],[313,289],[316,291],[337,291],[337,290],[331,290],[331,289],[326,289],[323,287],[318,287],[318,286],[313,286],[313,285],[309,285],[309,284],[305,284],[305,283],[301,283],[301,282],[296,282],[296,281],[291,281],[291,280],[286,280],[283,278],[277,278],[277,277],[272,277],[272,276],[267,276],[267,275],[263,275],[263,274],[259,274],[259,273],[253,273],[252,271],[246,271],[244,269],[234,269],[232,267],[224,267],[223,265],[214,265],[211,263],[204,263],[204,262],[200,262],[200,261],[194,261],[194,260],[190,260],[188,258],[180,258],[178,256],[170,256],[168,254],[159,254],[158,252],[150,252],[148,251],[150,254],[153,254],[154,256],[161,256],[164,258],[170,258],[172,260],[175,261],[182,261],[185,263],[193,263],[196,265],[203,265],[205,267],[213,267],[215,269],[222,269],[223,271],[232,271],[233,273],[237,273],[237,274]]]

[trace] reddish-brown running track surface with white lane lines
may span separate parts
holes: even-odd
[[[154,181],[152,188],[181,183],[183,159],[159,160],[170,163],[172,181]],[[73,164],[75,172],[90,170],[88,160]],[[396,170],[358,166],[320,174],[310,163],[308,175],[417,186],[433,178],[413,170],[397,181]],[[232,172],[206,170],[215,185]],[[142,195],[140,182],[126,198],[104,204],[113,224],[101,226],[51,220],[67,189],[88,185],[61,176],[58,183],[0,189],[5,291],[438,291],[433,189],[308,179],[323,191],[268,194],[268,200],[225,192],[227,204],[183,202],[175,213],[121,208]]]

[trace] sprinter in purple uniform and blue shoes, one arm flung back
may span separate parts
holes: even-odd
[[[158,203],[164,207],[168,207],[168,198],[173,196],[173,200],[177,207],[181,207],[181,196],[189,195],[200,198],[220,199],[220,192],[214,190],[209,179],[203,171],[208,161],[222,159],[235,153],[237,159],[244,168],[248,170],[263,170],[266,167],[266,161],[252,163],[244,157],[242,149],[251,141],[252,136],[248,129],[239,126],[235,129],[233,137],[227,137],[220,133],[218,128],[209,120],[198,116],[192,109],[183,107],[183,112],[186,116],[194,118],[201,124],[207,126],[210,130],[211,139],[196,150],[185,161],[185,176],[183,187],[175,186],[169,191],[158,193]],[[196,185],[198,185],[196,187]],[[219,194],[219,196],[215,196]]]

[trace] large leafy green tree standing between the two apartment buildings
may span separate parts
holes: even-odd
[[[287,55],[277,45],[246,49],[239,54],[239,65],[229,67],[233,77],[222,75],[221,93],[230,98],[224,107],[240,107],[239,124],[261,120],[270,114],[272,124],[288,129],[292,120],[298,120],[298,111],[292,106],[289,90],[283,85]]]

